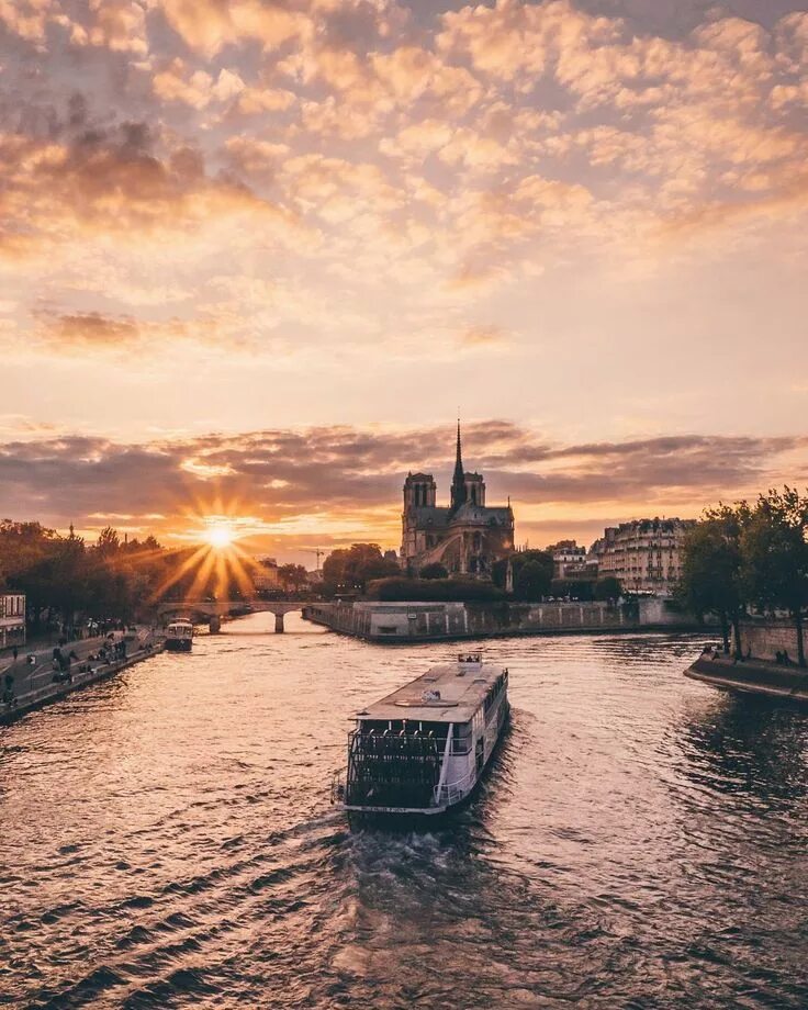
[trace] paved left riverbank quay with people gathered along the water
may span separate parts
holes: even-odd
[[[122,670],[134,666],[135,663],[143,662],[143,660],[162,652],[164,648],[161,640],[148,633],[136,641],[135,648],[131,649],[125,659],[114,660],[111,663],[89,661],[83,659],[78,651],[81,649],[85,654],[89,654],[101,643],[100,639],[90,639],[71,642],[65,647],[65,651],[74,650],[79,655],[79,661],[70,672],[70,680],[67,681],[54,681],[56,671],[53,670],[46,652],[32,653],[37,660],[35,665],[29,665],[23,659],[18,659],[16,663],[0,671],[0,678],[4,678],[7,675],[13,677],[12,686],[7,688],[13,695],[13,700],[0,702],[0,726],[14,722],[30,711],[42,708],[44,705],[49,705],[52,702],[58,702],[76,691],[97,684],[99,681],[114,676]]]

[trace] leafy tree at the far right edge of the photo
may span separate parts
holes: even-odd
[[[806,665],[803,610],[808,605],[808,497],[793,487],[758,498],[741,536],[750,598],[768,610],[787,610],[797,631],[797,662]]]

